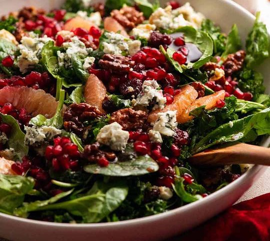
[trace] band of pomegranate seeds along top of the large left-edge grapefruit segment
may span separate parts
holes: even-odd
[[[12,76],[10,79],[0,79],[0,89],[5,86],[27,86],[33,89],[42,89],[51,95],[55,94],[56,83],[47,72],[42,74],[31,72],[25,77]]]

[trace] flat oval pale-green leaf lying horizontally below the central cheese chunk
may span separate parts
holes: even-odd
[[[89,164],[83,167],[85,172],[102,174],[105,176],[139,176],[155,172],[158,164],[148,155],[138,156],[130,161],[110,163],[107,167],[98,164]]]

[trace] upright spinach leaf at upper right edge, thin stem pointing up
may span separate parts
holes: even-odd
[[[245,42],[245,63],[249,69],[258,66],[269,56],[269,37],[266,26],[259,22],[259,15],[256,14],[255,23]]]

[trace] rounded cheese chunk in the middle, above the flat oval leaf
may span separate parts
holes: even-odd
[[[100,144],[107,145],[111,150],[124,150],[129,138],[128,131],[122,130],[122,126],[117,122],[105,125],[96,136],[96,141]]]

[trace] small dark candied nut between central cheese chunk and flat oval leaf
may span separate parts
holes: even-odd
[[[82,157],[89,162],[96,162],[100,157],[105,157],[108,161],[114,161],[116,159],[116,155],[113,152],[100,150],[100,144],[98,142],[84,146]]]

